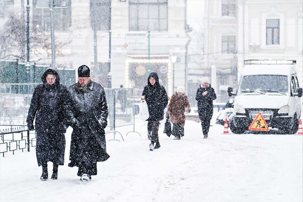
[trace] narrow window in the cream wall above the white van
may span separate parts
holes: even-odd
[[[266,45],[280,44],[280,19],[266,19]]]

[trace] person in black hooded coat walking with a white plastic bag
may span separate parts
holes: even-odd
[[[145,99],[148,106],[148,130],[151,131],[149,150],[153,151],[160,147],[158,137],[159,121],[164,118],[164,109],[168,103],[167,93],[165,88],[159,84],[156,72],[151,72],[148,76],[147,85],[144,87],[141,99]],[[156,145],[154,146],[155,143]]]

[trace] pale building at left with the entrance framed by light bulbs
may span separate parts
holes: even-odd
[[[4,1],[14,10],[26,7],[21,0]],[[36,8],[36,1],[30,0],[31,31],[50,35],[49,9]],[[158,73],[169,95],[173,84],[185,85],[186,0],[60,1],[68,7],[54,8],[55,41],[63,44],[56,49],[56,67],[88,65],[105,88],[111,77],[112,88],[142,89],[149,71]],[[50,53],[41,44],[30,61],[51,64]]]

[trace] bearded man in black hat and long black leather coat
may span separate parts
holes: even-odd
[[[78,68],[78,83],[68,88],[73,127],[69,167],[77,166],[82,181],[97,174],[97,162],[106,161],[104,128],[107,126],[108,107],[104,88],[91,80],[86,65]]]

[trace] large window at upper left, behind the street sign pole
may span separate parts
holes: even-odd
[[[1,1],[1,0],[0,0]],[[68,0],[67,8],[54,8],[54,30],[69,31],[72,25],[71,0]],[[36,8],[36,0],[33,1],[33,31],[50,31],[49,8]]]

